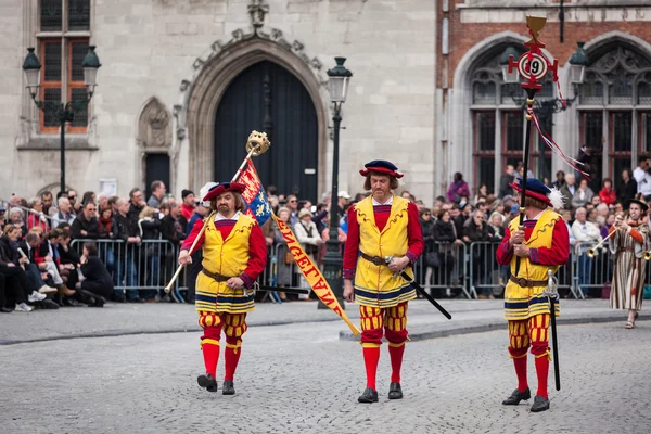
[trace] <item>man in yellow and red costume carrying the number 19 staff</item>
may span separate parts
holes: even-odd
[[[527,179],[524,200],[524,230],[519,229],[516,216],[506,229],[497,248],[500,265],[511,266],[511,278],[505,292],[505,319],[509,322],[509,354],[513,359],[518,388],[503,405],[513,406],[531,398],[526,378],[527,350],[535,357],[538,391],[532,406],[533,412],[549,409],[547,376],[549,373],[549,301],[542,295],[548,285],[548,270],[556,271],[567,261],[570,237],[561,216],[550,209],[563,206],[562,194],[550,190],[536,178]],[[522,191],[522,180],[512,183]],[[520,269],[515,276],[516,258]],[[556,314],[559,314],[558,306]]]

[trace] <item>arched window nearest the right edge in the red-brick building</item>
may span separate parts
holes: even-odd
[[[589,52],[588,59],[578,111],[595,190],[604,177],[620,182],[622,170],[635,166],[634,149],[651,155],[651,60],[621,41]]]

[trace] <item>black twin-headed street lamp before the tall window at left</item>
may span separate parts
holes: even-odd
[[[61,191],[65,191],[65,123],[74,119],[75,110],[84,110],[88,107],[88,103],[94,93],[94,88],[98,86],[98,69],[102,64],[94,52],[95,47],[89,46],[88,53],[81,62],[84,68],[84,85],[87,89],[86,101],[68,101],[67,103],[58,103],[53,101],[39,101],[36,95],[40,88],[40,68],[41,63],[34,53],[34,48],[27,49],[27,56],[23,63],[23,71],[27,80],[27,89],[31,94],[36,106],[43,113],[53,114],[61,124]]]

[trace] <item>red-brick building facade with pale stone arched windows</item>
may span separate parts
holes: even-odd
[[[562,12],[562,13],[561,13]],[[589,149],[592,188],[638,155],[651,153],[651,4],[643,0],[442,0],[437,8],[436,153],[443,165],[438,190],[455,171],[472,189],[492,191],[507,164],[522,159],[525,93],[503,82],[502,53],[523,50],[525,15],[546,16],[544,52],[559,61],[560,93],[547,80],[540,101],[564,111],[544,118],[545,129],[566,154]],[[562,20],[561,20],[562,16]],[[569,61],[585,42],[584,84],[569,82]],[[513,99],[512,97],[515,97]],[[529,167],[539,178],[572,170],[534,138]],[[474,190],[473,190],[474,192]]]

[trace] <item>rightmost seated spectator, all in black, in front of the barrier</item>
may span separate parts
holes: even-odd
[[[84,279],[76,284],[76,290],[86,296],[91,297],[94,303],[89,303],[91,307],[102,307],[113,294],[113,279],[104,264],[98,257],[98,247],[95,243],[85,243],[81,258],[81,275]],[[90,302],[90,301],[89,301]]]

